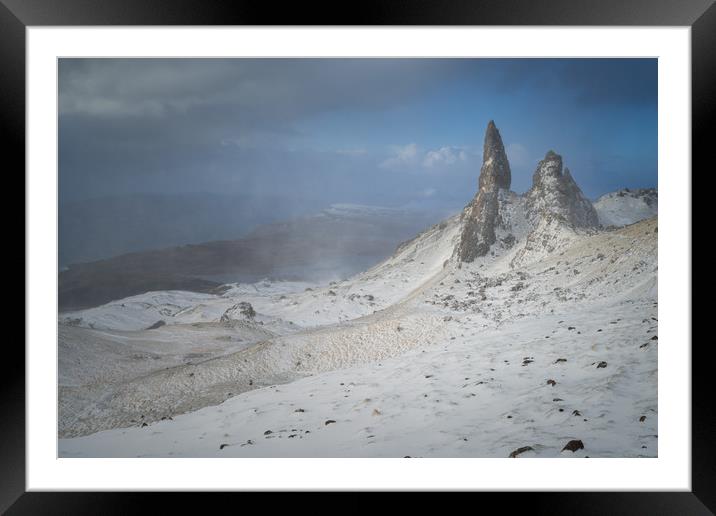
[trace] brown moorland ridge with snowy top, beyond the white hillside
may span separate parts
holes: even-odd
[[[70,265],[59,273],[60,310],[151,290],[213,292],[262,278],[335,280],[365,270],[432,223],[429,214],[334,204],[315,215],[259,225],[242,238],[190,243]]]

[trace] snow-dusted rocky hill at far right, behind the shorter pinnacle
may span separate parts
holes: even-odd
[[[654,188],[618,190],[602,195],[594,202],[602,226],[625,226],[656,217],[659,199]]]

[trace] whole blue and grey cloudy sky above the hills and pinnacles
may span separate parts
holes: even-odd
[[[549,149],[592,198],[657,182],[654,59],[62,59],[59,101],[61,201],[462,206],[490,119],[517,192]]]

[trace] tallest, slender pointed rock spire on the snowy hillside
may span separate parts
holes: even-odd
[[[490,120],[480,169],[479,189],[463,212],[463,229],[456,252],[463,262],[485,256],[495,243],[495,226],[499,220],[499,191],[509,190],[510,164],[495,122]]]

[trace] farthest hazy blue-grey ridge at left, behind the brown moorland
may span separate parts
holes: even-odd
[[[311,199],[201,192],[66,201],[59,210],[59,265],[241,238],[257,225],[317,209]]]

